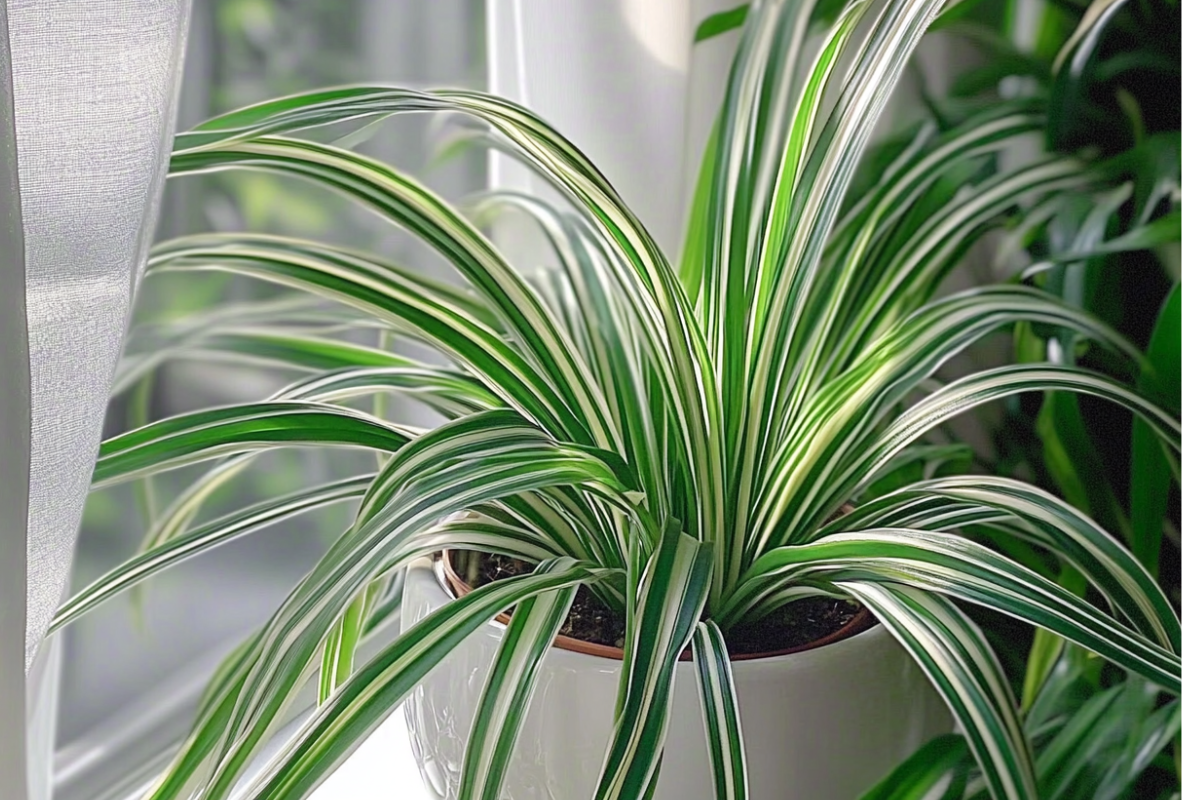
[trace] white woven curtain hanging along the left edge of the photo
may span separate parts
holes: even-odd
[[[154,234],[188,11],[0,0],[0,794],[14,800],[48,788],[53,703],[34,700],[54,692],[32,690],[53,690],[42,643]]]

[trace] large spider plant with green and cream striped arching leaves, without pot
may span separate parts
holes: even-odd
[[[424,240],[464,278],[440,283],[317,241],[202,235],[157,246],[149,275],[221,270],[342,307],[300,332],[296,307],[222,314],[170,343],[307,373],[262,403],[185,414],[106,441],[95,485],[221,459],[151,527],[144,552],[61,610],[61,626],[179,560],[310,509],[354,501],[353,524],[214,676],[196,723],[151,792],[227,798],[305,681],[318,709],[256,778],[253,796],[300,798],[474,630],[515,609],[492,664],[460,798],[497,796],[533,678],[578,587],[625,618],[622,691],[596,798],[654,790],[674,663],[689,645],[721,798],[748,777],[726,636],[808,595],[868,607],[911,652],[962,727],[996,798],[1033,798],[1015,702],[973,603],[1025,620],[1178,693],[1181,626],[1112,536],[1051,494],[1001,476],[881,481],[947,449],[948,417],[1020,392],[1120,403],[1168,449],[1180,423],[1133,389],[1069,366],[1027,363],[940,384],[941,365],[1018,321],[1068,329],[1140,365],[1135,348],[1032,287],[937,297],[965,249],[1021,200],[1097,180],[1055,157],[998,172],[996,154],[1037,131],[1013,101],[926,126],[854,182],[868,134],[940,0],[768,1],[746,13],[674,265],[587,157],[511,102],[457,90],[322,90],[252,106],[176,138],[172,175],[256,169],[299,176]],[[815,54],[812,58],[806,58]],[[413,112],[486,125],[564,198],[497,193],[463,213],[409,176],[293,134]],[[340,128],[341,130],[341,128]],[[860,178],[860,175],[859,175]],[[545,279],[481,233],[528,215],[558,259]],[[446,366],[350,344],[346,309]],[[335,331],[335,332],[331,332]],[[151,368],[142,354],[121,380]],[[446,417],[416,429],[353,398],[407,392]],[[253,458],[292,446],[359,447],[378,471],[194,524],[204,500]],[[894,481],[893,481],[894,483]],[[852,512],[834,518],[845,504]],[[470,510],[470,516],[457,515]],[[960,535],[988,525],[1052,553],[1094,589],[1080,599]],[[536,564],[484,585],[353,663],[394,603],[391,579],[446,548]],[[680,690],[684,691],[684,690]],[[686,691],[692,691],[690,687]]]

